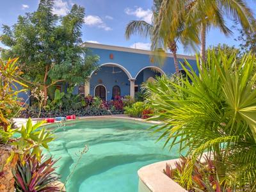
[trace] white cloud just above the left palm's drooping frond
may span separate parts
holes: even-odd
[[[145,22],[151,23],[152,22],[152,11],[147,9],[143,10],[143,8],[138,7],[136,10],[133,10],[131,8],[125,8],[124,12],[127,15],[134,15],[138,19],[145,20]]]

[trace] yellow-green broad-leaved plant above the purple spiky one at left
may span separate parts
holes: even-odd
[[[24,156],[31,153],[38,161],[41,161],[42,150],[40,147],[49,148],[48,143],[54,140],[51,132],[45,128],[38,129],[45,122],[38,122],[32,125],[31,118],[28,119],[26,127],[22,125],[21,128],[15,129],[15,132],[20,134],[20,138],[12,143],[17,147],[20,154],[20,161],[24,162]]]

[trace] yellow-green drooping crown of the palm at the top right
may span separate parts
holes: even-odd
[[[170,45],[173,40],[182,42],[186,47],[190,45],[196,48],[197,44],[201,44],[201,58],[204,61],[205,36],[209,29],[218,28],[221,33],[232,35],[225,17],[235,20],[248,33],[255,30],[253,12],[243,0],[161,0],[159,2],[159,14],[154,18],[151,38],[154,50],[162,44],[164,47]],[[198,41],[199,35],[200,41]],[[162,41],[159,41],[159,36]]]

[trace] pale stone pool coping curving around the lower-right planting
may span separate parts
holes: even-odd
[[[175,168],[175,162],[177,161],[180,161],[180,159],[160,161],[140,168],[138,170],[139,192],[187,192],[186,189],[182,188],[163,172],[166,163]]]

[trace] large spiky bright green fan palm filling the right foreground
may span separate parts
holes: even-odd
[[[181,64],[182,65],[182,64]],[[204,152],[216,161],[220,182],[232,189],[255,189],[256,185],[256,67],[255,56],[209,51],[207,62],[197,69],[186,62],[188,79],[159,79],[148,84],[152,108],[158,113],[150,120],[161,120],[159,138],[166,138],[172,149],[180,145],[191,159],[180,177],[182,186],[191,186],[193,164]],[[202,73],[202,70],[207,71]],[[200,74],[200,75],[198,75]],[[165,77],[163,77],[165,78]]]

